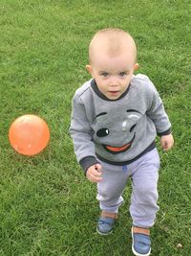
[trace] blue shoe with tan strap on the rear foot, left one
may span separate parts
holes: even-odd
[[[117,221],[117,214],[102,213],[98,219],[96,231],[99,235],[110,235],[113,232],[114,225]]]

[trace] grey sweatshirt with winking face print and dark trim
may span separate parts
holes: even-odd
[[[114,165],[135,161],[155,148],[157,134],[171,133],[159,93],[148,77],[133,76],[127,90],[109,100],[95,80],[74,94],[70,134],[84,171],[98,159]]]

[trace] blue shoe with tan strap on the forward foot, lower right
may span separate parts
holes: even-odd
[[[132,227],[132,251],[136,256],[149,256],[151,253],[151,240],[148,229]]]

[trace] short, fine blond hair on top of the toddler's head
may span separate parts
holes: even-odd
[[[137,47],[133,37],[121,29],[107,28],[99,30],[93,36],[89,45],[89,61],[92,63],[96,45],[107,45],[107,53],[110,56],[117,55],[124,46],[129,43],[135,55],[135,63],[137,61]]]

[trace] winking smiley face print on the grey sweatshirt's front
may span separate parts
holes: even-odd
[[[141,117],[136,109],[127,109],[120,114],[112,110],[98,113],[93,127],[94,141],[113,154],[130,150],[137,138]]]

